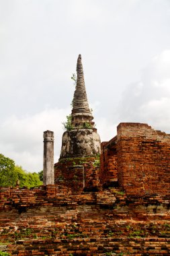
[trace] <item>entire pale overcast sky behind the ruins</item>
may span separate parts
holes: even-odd
[[[0,0],[0,153],[42,170],[71,113],[77,57],[101,141],[120,122],[170,133],[169,0]]]

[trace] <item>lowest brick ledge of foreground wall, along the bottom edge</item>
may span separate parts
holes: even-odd
[[[169,238],[75,238],[19,241],[7,249],[11,255],[168,256]],[[47,246],[48,244],[48,246]],[[14,253],[13,253],[14,252]]]

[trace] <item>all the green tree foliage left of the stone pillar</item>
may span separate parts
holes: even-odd
[[[26,172],[22,166],[15,166],[10,158],[0,154],[0,187],[15,187],[19,181],[19,187],[37,187],[42,185],[36,172]]]

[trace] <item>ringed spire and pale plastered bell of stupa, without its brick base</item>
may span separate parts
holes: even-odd
[[[81,55],[77,59],[77,83],[71,112],[71,129],[62,135],[60,158],[96,156],[100,138],[89,109]]]

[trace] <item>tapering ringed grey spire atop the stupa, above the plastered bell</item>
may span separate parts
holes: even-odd
[[[83,125],[83,123],[89,123],[89,125],[93,127],[93,115],[91,114],[87,100],[81,55],[79,55],[77,59],[77,82],[73,97],[73,109],[71,112],[71,117],[74,127],[79,127]]]

